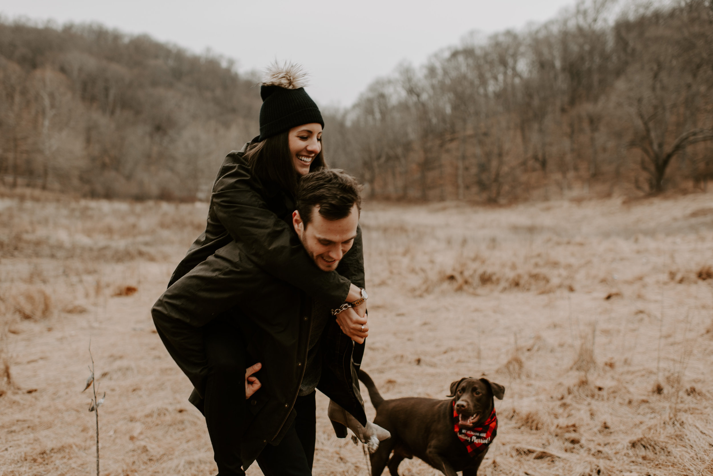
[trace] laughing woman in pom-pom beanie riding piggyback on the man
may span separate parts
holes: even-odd
[[[314,266],[287,223],[285,215],[294,211],[299,177],[325,166],[324,121],[303,81],[304,74],[292,65],[273,66],[267,74],[260,88],[260,136],[225,158],[212,189],[205,232],[190,247],[152,309],[161,339],[193,383],[190,400],[205,414],[219,475],[243,474],[242,462],[250,464],[256,456],[252,446],[245,454],[246,445],[236,430],[250,418],[242,382],[252,362],[246,361],[240,330],[226,314],[250,292],[240,256],[247,255],[261,269],[329,309],[360,299],[364,288],[360,229],[342,259],[344,266],[340,264],[342,275]],[[337,315],[339,328],[359,344],[369,332],[364,307]],[[363,345],[354,348],[354,366],[359,366],[363,351]],[[354,372],[350,374],[348,380]],[[347,383],[358,392],[358,383]],[[314,394],[311,398],[308,405],[314,405]],[[357,399],[361,401],[361,396]],[[363,408],[347,410],[363,415]],[[366,424],[365,417],[359,420]]]

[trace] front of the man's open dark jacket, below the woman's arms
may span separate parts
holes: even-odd
[[[247,401],[241,447],[243,467],[247,469],[267,443],[279,443],[296,416],[293,405],[307,361],[312,299],[304,291],[262,271],[242,254],[238,259],[245,271],[245,287],[253,289],[254,294],[245,296],[232,311],[235,314],[231,319],[240,323],[247,363],[262,363],[258,374],[262,387]],[[324,328],[320,346],[322,374],[317,389],[365,425],[358,369],[352,357],[354,341],[331,319]],[[190,400],[200,408],[197,392]]]

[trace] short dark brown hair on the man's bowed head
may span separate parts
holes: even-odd
[[[361,185],[339,169],[322,169],[304,175],[297,186],[297,211],[304,227],[312,221],[312,209],[329,220],[349,216],[352,207],[361,212]]]

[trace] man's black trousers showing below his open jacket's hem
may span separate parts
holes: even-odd
[[[316,436],[315,392],[297,397],[294,410],[297,418],[290,426],[279,445],[267,445],[257,457],[265,476],[309,476],[314,462],[314,439]]]

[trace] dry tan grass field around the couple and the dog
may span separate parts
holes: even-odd
[[[506,386],[483,475],[713,475],[712,198],[367,204],[363,368],[386,398],[444,398],[463,376]],[[0,196],[1,476],[95,471],[90,340],[102,474],[215,474],[149,314],[205,214]],[[326,405],[314,474],[366,475]]]

